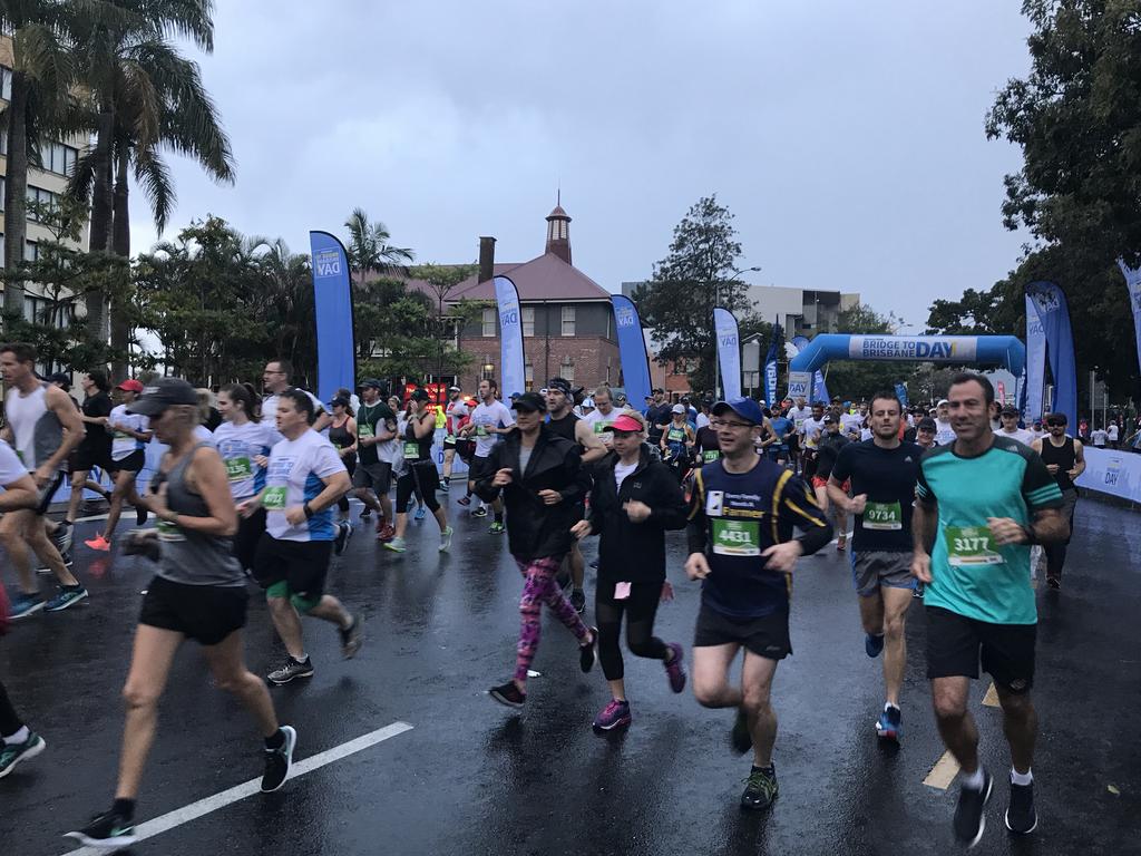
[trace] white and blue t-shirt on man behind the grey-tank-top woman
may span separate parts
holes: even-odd
[[[285,509],[314,499],[325,490],[323,478],[345,471],[333,444],[311,428],[297,439],[278,441],[269,452],[266,490],[261,494],[266,531],[278,541],[332,541],[337,534],[333,506],[297,526],[285,520]]]

